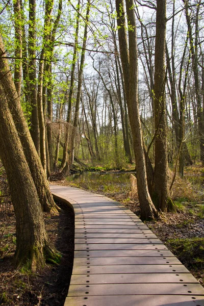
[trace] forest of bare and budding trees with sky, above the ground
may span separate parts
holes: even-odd
[[[201,0],[1,1],[0,157],[16,266],[59,260],[41,212],[60,211],[48,178],[136,169],[141,219],[179,209],[175,182],[204,166],[203,9]],[[189,190],[202,204],[202,189]]]

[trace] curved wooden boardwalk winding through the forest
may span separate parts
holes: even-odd
[[[204,306],[204,289],[148,227],[106,196],[51,185],[75,213],[65,306]]]

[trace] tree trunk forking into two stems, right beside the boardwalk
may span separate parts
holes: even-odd
[[[158,213],[149,196],[146,178],[145,158],[142,143],[142,131],[138,105],[138,54],[136,21],[134,13],[134,3],[126,0],[127,19],[129,24],[129,52],[127,49],[127,39],[125,33],[124,7],[122,0],[116,0],[118,37],[120,46],[120,56],[124,75],[125,94],[127,98],[127,108],[129,112],[131,130],[133,133],[133,146],[137,167],[137,186],[140,201],[141,218],[154,219]],[[129,56],[130,63],[129,64]]]

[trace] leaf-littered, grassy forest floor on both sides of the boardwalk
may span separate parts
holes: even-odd
[[[27,267],[16,270],[13,264],[15,252],[15,218],[9,196],[6,177],[0,168],[0,304],[4,306],[61,306],[68,291],[73,264],[74,219],[69,208],[64,214],[50,215],[44,219],[50,241],[62,254],[59,266],[49,265],[36,273]],[[199,165],[186,168],[186,176],[202,177]],[[170,172],[170,180],[172,173]],[[123,203],[140,215],[137,188],[134,180],[120,180],[113,175],[110,181],[104,175],[95,179],[54,181],[52,184],[71,185],[104,194]],[[179,258],[190,272],[204,284],[204,189],[202,183],[192,184],[178,177],[173,185],[172,199],[175,213],[162,213],[157,221],[147,226]],[[60,203],[58,203],[60,205]]]

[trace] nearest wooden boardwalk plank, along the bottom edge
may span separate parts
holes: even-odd
[[[88,292],[88,291],[87,291]],[[203,296],[187,295],[99,295],[67,297],[64,306],[204,306]]]

